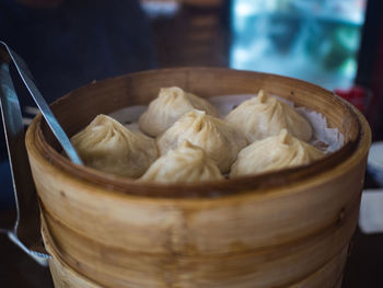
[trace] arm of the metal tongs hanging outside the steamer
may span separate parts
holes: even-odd
[[[24,142],[23,118],[7,61],[0,64],[0,106],[16,205],[13,229],[2,232],[7,232],[9,239],[37,263],[46,266],[50,255],[39,232],[38,201]]]

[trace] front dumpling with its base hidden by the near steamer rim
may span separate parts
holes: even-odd
[[[197,146],[185,140],[159,158],[139,178],[143,182],[193,183],[223,178],[216,163]]]

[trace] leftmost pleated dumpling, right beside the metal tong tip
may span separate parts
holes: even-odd
[[[98,115],[71,138],[84,164],[127,177],[139,177],[158,158],[155,140]]]

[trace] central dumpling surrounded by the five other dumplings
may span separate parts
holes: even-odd
[[[176,149],[183,140],[201,147],[222,173],[229,171],[237,153],[247,145],[245,136],[222,119],[194,110],[158,138],[160,154]]]

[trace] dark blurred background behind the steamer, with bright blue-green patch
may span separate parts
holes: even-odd
[[[230,67],[334,91],[367,116],[374,141],[383,139],[381,0],[0,0],[0,39],[24,58],[48,102],[132,71]],[[36,108],[18,81],[16,89],[27,125]],[[378,186],[368,174],[365,188]],[[0,187],[1,222],[14,212],[2,131]],[[344,287],[383,287],[383,234],[358,229],[353,243]],[[53,287],[3,235],[0,251],[1,287]]]

